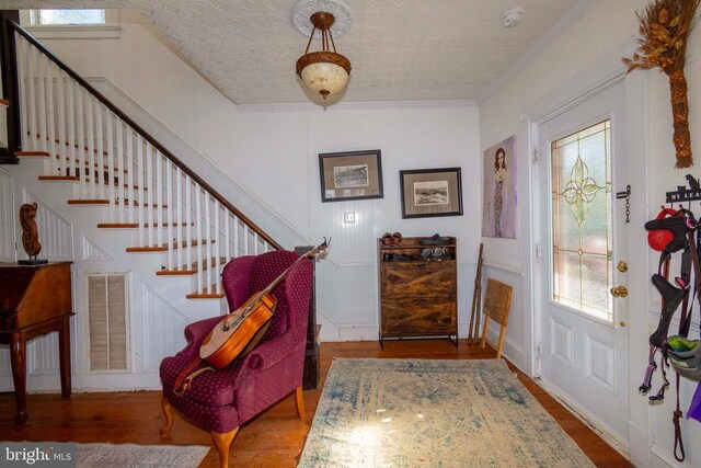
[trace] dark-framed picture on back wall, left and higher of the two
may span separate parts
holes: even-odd
[[[382,159],[379,149],[319,155],[321,201],[382,198]]]

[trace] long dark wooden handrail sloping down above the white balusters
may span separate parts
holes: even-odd
[[[61,70],[64,70],[68,76],[74,79],[80,85],[87,89],[92,95],[94,95],[102,104],[104,104],[110,111],[116,114],[122,121],[124,121],[127,125],[134,128],[137,133],[139,133],[143,139],[146,139],[149,144],[151,144],[156,149],[158,149],[163,156],[170,159],[175,165],[177,165],[184,173],[189,175],[189,178],[198,183],[203,189],[205,189],[211,196],[214,196],[225,208],[229,212],[233,213],[237,218],[241,219],[245,225],[248,225],[255,233],[257,233],[265,242],[269,243],[277,250],[284,250],[283,247],[277,243],[273,238],[271,238],[263,229],[261,229],[255,222],[251,221],[243,213],[241,213],[235,206],[233,206],[227,198],[225,198],[219,192],[214,190],[207,182],[205,182],[199,175],[195,173],[192,169],[189,169],[183,161],[177,159],[175,155],[169,151],[163,145],[161,145],[154,137],[152,137],[148,132],[141,128],[136,122],[134,122],[128,115],[119,110],[115,104],[112,103],[107,98],[105,98],[100,91],[97,91],[92,84],[85,81],[80,75],[73,71],[68,65],[66,65],[60,58],[56,57],[48,48],[46,48],[42,43],[39,43],[32,34],[30,34],[26,30],[20,26],[15,21],[8,19],[8,24],[10,28],[16,31],[21,34],[25,39],[27,39],[34,47],[39,49],[45,56],[47,56],[54,64],[56,64]]]

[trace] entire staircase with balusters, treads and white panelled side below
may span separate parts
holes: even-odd
[[[18,124],[21,149],[19,164],[0,169],[0,194],[15,199],[0,199],[0,215],[8,222],[21,203],[37,201],[38,216],[48,217],[37,217],[39,256],[74,262],[73,388],[160,388],[158,364],[183,347],[185,324],[226,312],[226,263],[281,247],[16,23],[7,24],[16,59],[8,110],[15,114],[8,119]],[[53,251],[56,239],[64,248]],[[93,334],[88,292],[95,274],[126,278],[129,329],[117,350],[124,368],[91,362],[103,344]],[[56,388],[55,341],[47,335],[30,345],[30,389]],[[5,351],[0,376],[9,377]]]

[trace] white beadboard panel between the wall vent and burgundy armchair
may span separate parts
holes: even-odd
[[[157,373],[161,361],[185,346],[183,331],[189,320],[157,292],[141,284],[143,370]]]

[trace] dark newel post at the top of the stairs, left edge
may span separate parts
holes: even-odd
[[[18,10],[0,10],[0,68],[2,68],[2,99],[8,104],[0,107],[0,112],[7,113],[7,139],[0,148],[0,164],[16,164],[15,151],[21,150],[22,139],[20,134],[20,99],[18,92],[18,57],[14,44],[14,31],[9,21],[20,23]],[[1,119],[0,119],[1,121]],[[0,129],[0,135],[4,128]],[[4,137],[4,135],[2,135]]]

